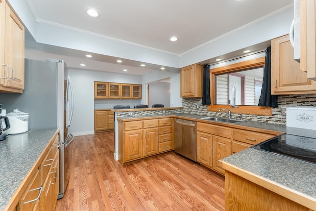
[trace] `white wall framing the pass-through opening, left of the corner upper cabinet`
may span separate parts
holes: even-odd
[[[147,104],[148,83],[156,82],[162,79],[170,78],[170,107],[182,107],[182,98],[180,97],[180,72],[153,71],[143,76],[142,104]]]

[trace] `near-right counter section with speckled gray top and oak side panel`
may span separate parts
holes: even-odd
[[[292,127],[286,132],[307,134]],[[226,210],[316,210],[313,163],[248,148],[222,159],[222,165]]]

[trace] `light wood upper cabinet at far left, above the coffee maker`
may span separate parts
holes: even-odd
[[[24,89],[24,26],[5,0],[0,0],[0,92]]]

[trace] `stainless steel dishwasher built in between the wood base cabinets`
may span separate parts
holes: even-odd
[[[175,119],[174,151],[197,161],[197,122]]]

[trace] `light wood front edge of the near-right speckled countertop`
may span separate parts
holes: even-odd
[[[280,196],[283,196],[289,200],[292,200],[293,202],[303,205],[311,210],[314,210],[316,208],[316,199],[309,195],[290,189],[286,186],[283,186],[265,177],[259,176],[255,173],[251,173],[250,171],[238,168],[225,161],[221,161],[221,162],[222,162],[223,169],[227,171],[230,171],[250,182],[253,182],[263,188],[266,188]]]

